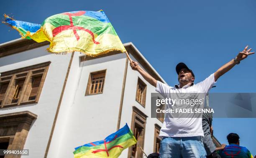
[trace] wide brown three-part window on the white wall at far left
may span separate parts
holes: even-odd
[[[2,72],[0,107],[38,102],[50,63]]]

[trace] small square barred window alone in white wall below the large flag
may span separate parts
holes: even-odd
[[[90,73],[85,95],[103,92],[106,70]]]

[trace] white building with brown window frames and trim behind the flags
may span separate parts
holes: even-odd
[[[26,39],[0,45],[3,149],[29,149],[24,158],[70,158],[75,147],[103,140],[127,123],[146,154],[158,152],[163,119],[151,118],[155,87],[130,68],[125,54],[56,55],[46,51],[48,45]],[[164,82],[133,43],[124,46]],[[141,158],[143,152],[134,145],[120,155],[127,157]]]

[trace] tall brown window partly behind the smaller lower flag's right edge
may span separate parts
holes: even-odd
[[[129,148],[128,158],[143,158],[143,151],[141,148],[143,149],[144,147],[146,117],[147,116],[143,112],[133,106],[131,129],[137,143]]]

